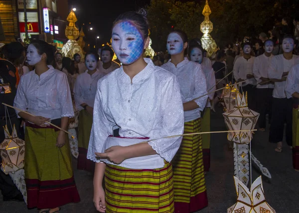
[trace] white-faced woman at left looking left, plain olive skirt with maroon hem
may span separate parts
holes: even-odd
[[[70,145],[64,131],[69,117],[74,116],[72,98],[66,75],[51,65],[53,46],[34,40],[27,49],[28,64],[35,70],[22,76],[14,106],[35,116],[16,110],[26,120],[25,182],[27,207],[40,213],[58,213],[59,207],[78,203]],[[56,208],[55,208],[56,207]]]

